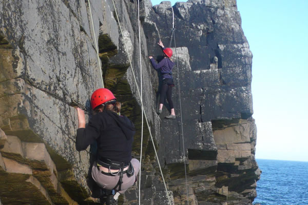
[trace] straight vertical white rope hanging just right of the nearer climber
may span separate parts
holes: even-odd
[[[139,13],[139,0],[138,0],[138,37],[139,37],[139,55],[140,55],[140,92],[142,104],[142,64],[141,64],[141,41],[140,41],[140,13]],[[143,106],[141,107],[141,148],[140,148],[140,167],[139,167],[139,205],[140,205],[140,187],[141,187],[141,160],[142,160],[142,142],[143,142]]]

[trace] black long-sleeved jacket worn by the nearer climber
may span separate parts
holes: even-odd
[[[95,140],[99,157],[120,162],[131,160],[131,147],[135,134],[133,123],[112,111],[104,111],[91,117],[86,128],[79,128],[76,149],[82,151]]]

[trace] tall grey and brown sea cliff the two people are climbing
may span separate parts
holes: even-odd
[[[251,204],[260,176],[252,53],[236,1],[190,0],[171,8],[144,0],[139,19],[138,1],[115,7],[119,20],[111,0],[0,3],[0,204],[97,203],[89,174],[94,153],[75,149],[73,107],[91,117],[89,96],[104,84],[136,125],[133,155],[140,158],[140,67],[142,103],[171,202]],[[168,107],[156,114],[161,82],[147,56],[161,58],[159,39],[177,63],[175,120],[163,118]],[[141,203],[168,204],[146,125],[142,156]],[[119,204],[138,204],[138,187]]]

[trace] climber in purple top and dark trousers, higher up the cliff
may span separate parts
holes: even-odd
[[[157,114],[160,115],[162,113],[163,103],[166,96],[171,113],[170,115],[167,115],[165,118],[175,119],[176,113],[171,98],[172,87],[174,86],[174,80],[172,78],[172,67],[174,66],[174,62],[172,62],[170,59],[170,57],[172,56],[172,50],[170,48],[165,48],[161,40],[159,40],[158,45],[160,45],[163,49],[164,58],[157,64],[155,59],[152,56],[149,56],[153,68],[155,68],[155,70],[160,69],[160,72],[163,77],[163,85],[160,90],[159,110]]]

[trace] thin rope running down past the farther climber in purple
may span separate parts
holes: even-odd
[[[172,33],[171,33],[170,47],[171,47],[171,42],[172,42],[172,37],[173,37],[174,43],[175,43],[175,50],[176,50],[177,79],[178,79],[180,117],[181,117],[181,128],[182,128],[182,143],[183,143],[183,157],[184,157],[184,169],[185,169],[186,195],[187,195],[187,204],[189,205],[188,185],[187,185],[187,172],[186,172],[186,155],[185,155],[184,131],[183,131],[183,120],[182,120],[181,92],[180,92],[180,77],[179,77],[179,67],[178,67],[178,52],[177,52],[176,35],[175,35],[175,15],[174,15],[173,7],[171,7],[171,9],[172,9]],[[195,201],[194,201],[194,204],[195,204]]]

